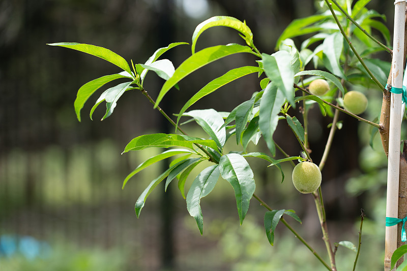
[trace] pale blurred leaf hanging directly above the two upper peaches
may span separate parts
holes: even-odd
[[[339,64],[339,58],[343,49],[343,36],[340,32],[329,35],[323,43],[323,61],[327,69],[334,75],[346,79],[342,67]]]

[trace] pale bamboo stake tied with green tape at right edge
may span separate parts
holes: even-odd
[[[405,1],[394,3],[394,38],[392,60],[392,87],[402,88],[403,57],[404,57],[404,17]],[[397,218],[398,214],[398,179],[400,172],[400,123],[401,96],[391,93],[390,102],[390,132],[389,132],[389,162],[387,173],[386,217]],[[385,271],[390,271],[391,256],[397,248],[397,227],[386,226],[385,234]]]

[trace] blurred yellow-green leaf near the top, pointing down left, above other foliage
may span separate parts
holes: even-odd
[[[310,26],[310,25],[315,22],[322,21],[331,16],[332,15],[326,13],[326,14],[313,15],[313,16],[308,16],[308,17],[302,18],[302,19],[293,20],[281,33],[281,36],[277,40],[276,48],[278,48],[281,41],[283,41],[285,39],[301,36],[304,34],[312,33],[312,32],[323,29],[323,27],[321,27],[321,26]]]

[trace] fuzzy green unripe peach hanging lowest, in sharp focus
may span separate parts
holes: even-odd
[[[301,162],[294,167],[293,184],[303,194],[312,193],[318,189],[321,180],[321,171],[314,163]]]

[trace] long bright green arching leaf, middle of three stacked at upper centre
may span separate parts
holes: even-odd
[[[180,82],[184,77],[190,73],[198,70],[200,67],[205,66],[222,57],[236,54],[236,53],[253,53],[250,47],[242,46],[239,44],[218,45],[200,50],[199,52],[188,57],[181,65],[175,70],[173,76],[168,79],[162,86],[158,94],[155,108],[160,104],[161,99],[164,97],[168,90]]]

